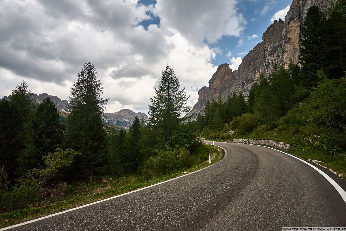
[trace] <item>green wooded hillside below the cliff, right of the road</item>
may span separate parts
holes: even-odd
[[[327,16],[310,7],[302,35],[300,65],[273,65],[249,93],[207,102],[197,117],[208,139],[273,139],[293,145],[289,151],[317,159],[346,173],[346,7],[330,7]],[[233,135],[228,131],[234,131]]]

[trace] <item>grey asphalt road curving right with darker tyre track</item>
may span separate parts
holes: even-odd
[[[346,227],[345,201],[310,166],[262,146],[215,144],[227,156],[209,168],[11,230]]]

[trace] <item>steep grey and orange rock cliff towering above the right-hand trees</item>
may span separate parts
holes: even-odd
[[[288,67],[290,61],[298,64],[301,28],[307,10],[316,5],[322,12],[328,9],[333,0],[293,0],[285,21],[270,25],[263,33],[262,42],[244,56],[238,69],[232,71],[227,63],[219,65],[217,71],[209,80],[209,87],[202,87],[198,92],[198,102],[186,116],[192,115],[192,120],[198,112],[204,110],[207,100],[221,96],[227,99],[233,92],[240,92],[247,98],[252,85],[263,72],[270,74],[274,62]]]

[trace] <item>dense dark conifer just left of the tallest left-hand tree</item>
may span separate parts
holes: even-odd
[[[42,157],[61,148],[65,131],[65,127],[60,123],[57,108],[49,97],[38,104],[27,130],[26,149],[21,157],[22,165],[27,170],[44,167]]]

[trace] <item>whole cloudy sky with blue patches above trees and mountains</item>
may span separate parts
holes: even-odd
[[[217,66],[236,70],[292,0],[0,0],[0,96],[21,81],[67,99],[89,60],[107,112],[147,112],[169,63],[190,95]]]

